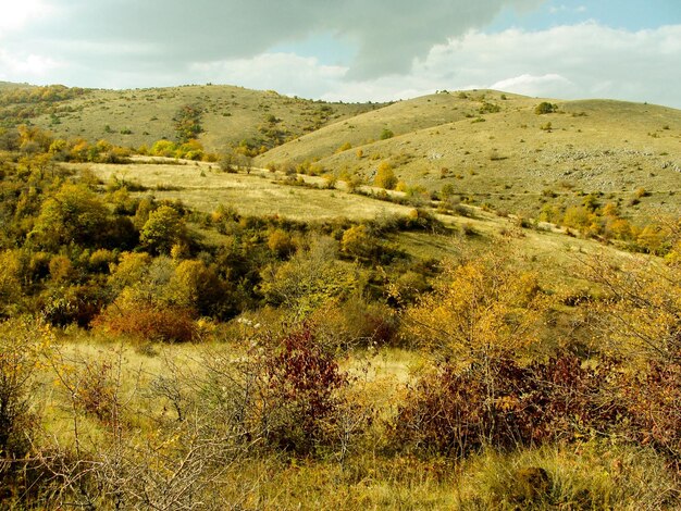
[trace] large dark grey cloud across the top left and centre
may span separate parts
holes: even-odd
[[[52,15],[34,20],[9,50],[49,48],[54,60],[98,62],[111,46],[152,48],[108,65],[124,73],[166,71],[194,62],[248,59],[277,45],[332,34],[356,47],[347,77],[406,73],[433,45],[491,23],[505,8],[543,0],[26,0],[49,2]],[[20,35],[17,35],[20,36]],[[74,47],[72,41],[82,43]],[[33,49],[32,49],[33,47]],[[98,62],[101,65],[101,62]],[[100,68],[92,65],[92,71]]]

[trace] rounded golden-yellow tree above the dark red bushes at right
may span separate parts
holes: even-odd
[[[490,253],[446,263],[433,292],[406,310],[407,335],[445,360],[485,363],[531,345],[544,307],[533,274]]]

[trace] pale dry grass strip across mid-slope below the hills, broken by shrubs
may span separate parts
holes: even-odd
[[[370,197],[348,194],[340,189],[310,189],[286,186],[283,175],[268,171],[250,174],[227,174],[215,164],[185,162],[186,164],[77,164],[88,166],[102,180],[112,175],[136,182],[149,188],[136,195],[153,195],[157,199],[179,199],[185,204],[210,213],[219,204],[231,205],[242,214],[281,215],[312,222],[334,217],[356,221],[391,215],[408,215],[411,207],[398,205]],[[307,176],[309,183],[323,179]],[[170,189],[169,189],[170,188]],[[471,217],[438,215],[449,227],[444,235],[425,232],[389,235],[395,244],[416,260],[459,257],[488,250],[498,244],[508,244],[517,257],[517,264],[542,275],[543,284],[587,286],[579,278],[578,258],[603,253],[611,258],[622,256],[612,247],[590,239],[568,237],[556,229],[521,229],[512,217],[502,217],[479,208],[470,208]],[[433,210],[434,212],[434,210]],[[465,229],[472,233],[462,236]]]

